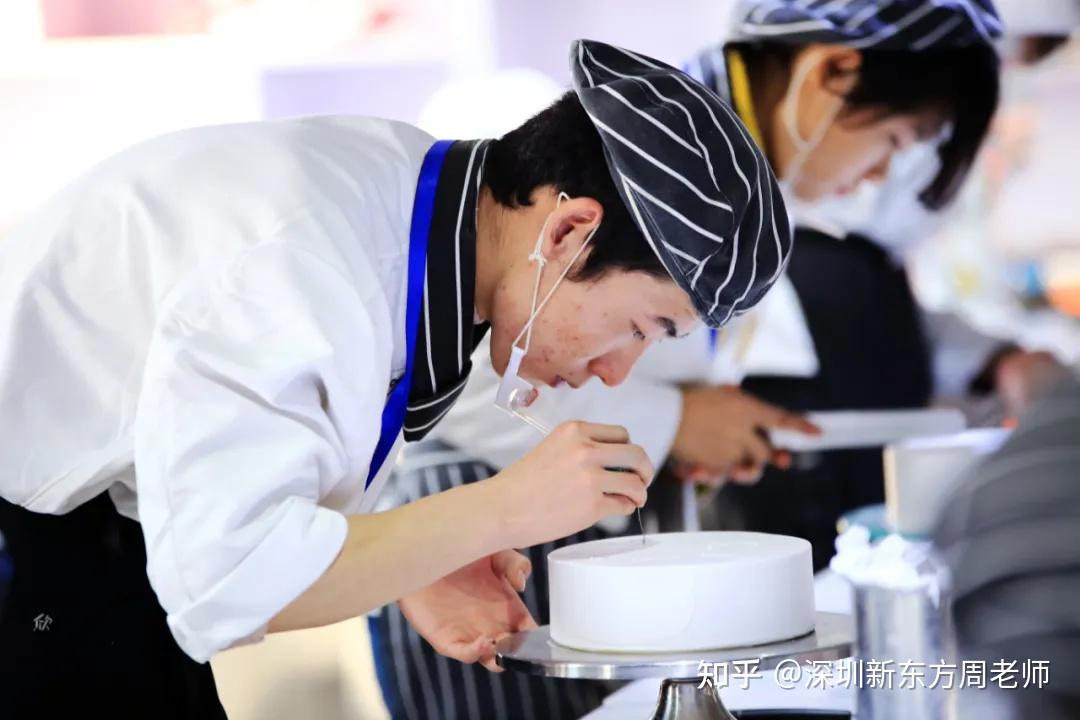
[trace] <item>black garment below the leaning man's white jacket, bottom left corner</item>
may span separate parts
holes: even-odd
[[[66,515],[0,499],[0,532],[14,570],[0,609],[0,718],[227,717],[211,665],[170,633],[138,524],[107,493]]]

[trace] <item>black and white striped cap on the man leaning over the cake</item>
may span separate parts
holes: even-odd
[[[792,235],[734,111],[679,70],[600,42],[576,41],[570,65],[620,196],[698,314],[719,327],[750,310],[783,272]]]

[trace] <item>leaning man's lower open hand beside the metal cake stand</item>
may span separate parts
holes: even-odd
[[[518,596],[531,571],[524,555],[502,551],[403,597],[399,604],[435,651],[500,673],[495,643],[537,626]]]

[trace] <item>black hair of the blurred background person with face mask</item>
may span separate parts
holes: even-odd
[[[731,43],[747,64],[761,58],[791,67],[798,45],[777,42]],[[845,116],[870,110],[878,117],[941,112],[949,123],[948,137],[939,146],[941,169],[919,193],[930,209],[940,209],[956,196],[986,138],[998,106],[1000,59],[989,45],[932,47],[922,51],[859,51],[862,65],[854,87],[845,96]]]

